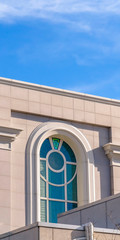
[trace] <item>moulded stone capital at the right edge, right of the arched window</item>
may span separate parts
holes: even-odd
[[[107,143],[104,145],[105,154],[110,159],[111,165],[120,166],[120,145]]]

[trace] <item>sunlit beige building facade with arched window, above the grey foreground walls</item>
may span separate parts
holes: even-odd
[[[1,234],[119,192],[120,101],[0,78]]]

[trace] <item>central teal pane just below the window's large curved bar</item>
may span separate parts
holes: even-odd
[[[55,187],[49,184],[49,198],[65,199],[65,189],[63,187]]]

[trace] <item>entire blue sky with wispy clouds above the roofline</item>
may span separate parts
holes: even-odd
[[[120,99],[120,0],[0,0],[0,76]]]

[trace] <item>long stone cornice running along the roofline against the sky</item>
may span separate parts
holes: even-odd
[[[83,100],[87,100],[87,101],[95,101],[95,102],[100,102],[100,103],[104,103],[104,104],[120,106],[119,100],[98,97],[98,96],[88,95],[88,94],[84,94],[84,93],[77,93],[74,91],[68,91],[68,90],[63,90],[63,89],[59,89],[59,88],[46,87],[43,85],[32,84],[32,83],[13,80],[13,79],[9,79],[9,78],[0,77],[0,83],[5,84],[5,85],[10,85],[10,86],[15,86],[15,87],[21,87],[21,88],[26,88],[26,89],[36,90],[36,91],[47,92],[47,93],[51,93],[51,94],[63,95],[63,96],[72,97],[72,98],[79,98],[79,99],[83,99]]]

